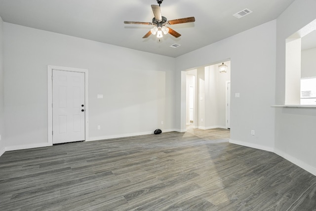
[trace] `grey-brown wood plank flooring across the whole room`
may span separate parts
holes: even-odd
[[[316,176],[189,129],[5,152],[1,211],[316,211]]]

